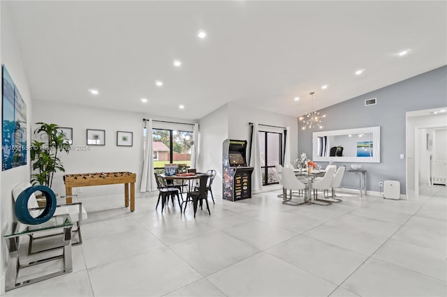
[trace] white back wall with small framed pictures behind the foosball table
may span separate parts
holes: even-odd
[[[53,190],[65,194],[64,174],[90,172],[133,172],[137,174],[136,192],[139,192],[142,173],[142,119],[196,123],[179,119],[150,116],[137,112],[121,112],[112,109],[85,107],[45,100],[34,101],[34,123],[56,123],[73,128],[73,150],[60,156],[65,173],[54,174]],[[154,123],[154,126],[156,124]],[[87,146],[87,129],[105,130],[105,146]],[[133,132],[133,146],[117,146],[117,131]],[[87,146],[88,150],[78,150]],[[123,185],[99,185],[80,188],[78,198],[110,197],[124,193]],[[73,190],[76,194],[77,189]],[[138,195],[137,196],[142,196]],[[87,207],[86,207],[87,208]],[[88,211],[88,209],[87,209]]]

